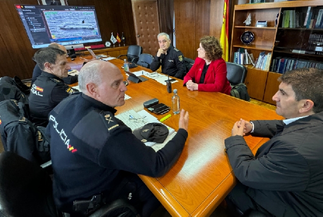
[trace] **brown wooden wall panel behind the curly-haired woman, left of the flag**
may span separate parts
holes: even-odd
[[[185,57],[198,56],[203,36],[220,38],[223,4],[223,0],[174,0],[176,47]]]

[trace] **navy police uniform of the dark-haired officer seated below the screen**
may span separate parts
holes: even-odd
[[[46,126],[48,113],[64,98],[78,90],[64,84],[56,75],[42,72],[31,86],[29,95],[30,115],[37,125]]]

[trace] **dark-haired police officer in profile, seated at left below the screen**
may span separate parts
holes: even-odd
[[[63,99],[77,91],[64,84],[61,78],[68,76],[71,67],[64,51],[52,47],[38,50],[34,59],[42,74],[31,86],[29,109],[36,125],[46,126],[48,113]]]

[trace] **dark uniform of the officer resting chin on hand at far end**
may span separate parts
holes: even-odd
[[[161,65],[161,72],[179,79],[183,79],[186,74],[183,53],[172,45],[167,50],[167,55],[155,56],[150,64],[150,69],[156,71]]]

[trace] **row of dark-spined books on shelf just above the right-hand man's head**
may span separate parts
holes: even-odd
[[[306,59],[296,59],[289,57],[278,56],[273,59],[271,66],[271,72],[276,72],[284,74],[287,71],[302,69],[302,68],[317,68],[323,69],[323,63],[319,61],[306,60]]]

